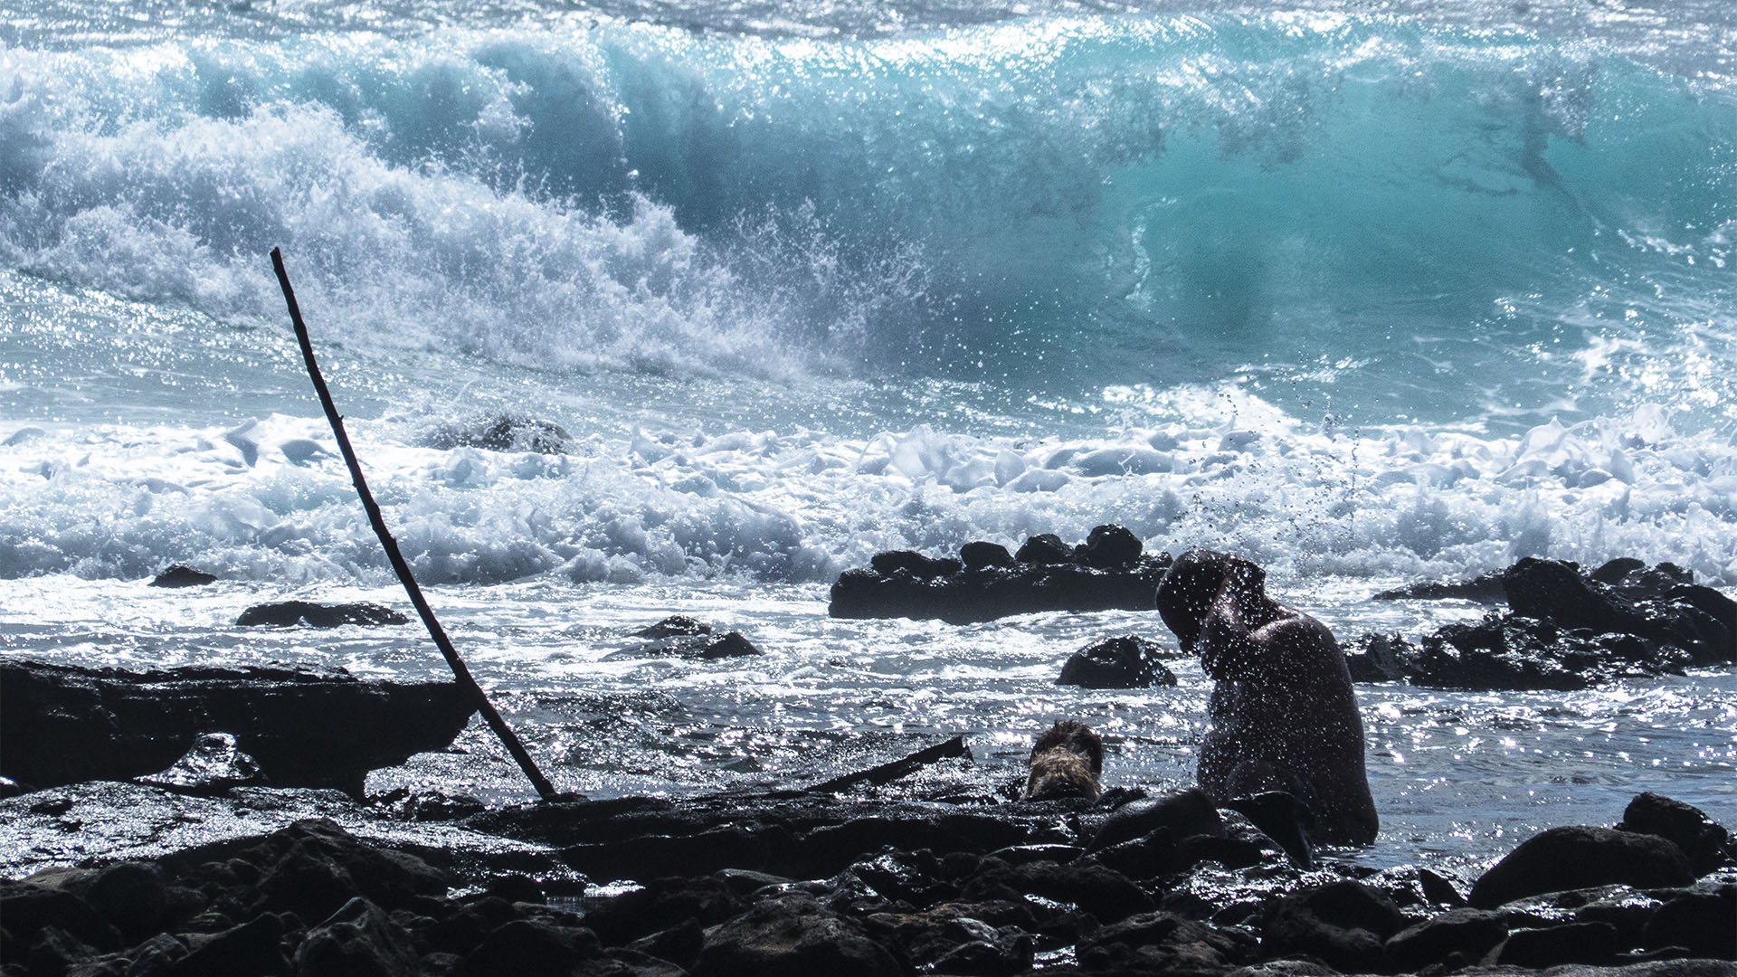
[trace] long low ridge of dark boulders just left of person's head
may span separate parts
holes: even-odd
[[[1098,560],[1108,568],[1087,563],[1086,546],[1075,551],[1053,535],[1028,539],[1011,563],[985,558],[968,567],[910,551],[879,553],[868,568],[839,575],[829,614],[968,624],[1040,610],[1152,610],[1169,558],[1136,553],[1131,563],[1113,563],[1126,549],[1117,539],[1100,541]]]

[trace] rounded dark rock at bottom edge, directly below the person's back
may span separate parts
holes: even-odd
[[[1400,907],[1376,888],[1332,881],[1280,899],[1261,932],[1261,953],[1310,954],[1362,974],[1381,965],[1383,944],[1403,925]]]

